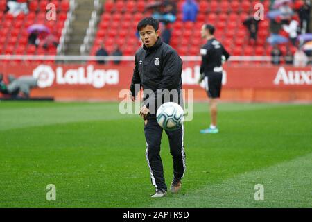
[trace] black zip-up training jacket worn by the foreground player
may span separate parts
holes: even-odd
[[[157,111],[157,105],[161,105],[167,102],[164,99],[164,92],[160,90],[176,89],[178,98],[176,100],[172,98],[170,101],[175,101],[182,105],[182,59],[171,46],[162,42],[161,38],[158,38],[154,46],[147,48],[145,45],[141,47],[137,53],[135,53],[135,69],[133,70],[133,77],[131,81],[131,94],[137,96],[140,88],[144,89],[144,104],[150,108],[150,114],[147,119],[155,118]],[[135,88],[135,84],[139,84],[139,87]],[[146,89],[154,92],[153,96],[146,92]],[[161,104],[156,101],[162,99]],[[153,106],[152,106],[153,105]],[[183,106],[182,106],[183,108]]]

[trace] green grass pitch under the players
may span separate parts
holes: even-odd
[[[207,103],[194,108],[182,190],[153,199],[138,115],[118,103],[0,102],[0,207],[312,207],[312,105],[221,103],[217,135],[199,133]],[[162,160],[169,186],[166,134]]]

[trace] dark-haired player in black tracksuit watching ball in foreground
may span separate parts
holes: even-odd
[[[144,89],[144,105],[141,108],[140,116],[144,119],[144,134],[146,137],[146,160],[150,169],[150,178],[156,188],[152,197],[166,196],[166,183],[162,159],[159,155],[160,143],[163,129],[156,121],[157,105],[162,105],[164,96],[161,90],[177,90],[178,98],[171,98],[170,101],[182,103],[182,60],[177,52],[160,39],[159,22],[152,17],[142,19],[137,25],[137,31],[143,42],[135,54],[135,69],[133,71],[132,83],[130,86],[132,101],[140,88]],[[147,97],[146,90],[155,94]],[[160,103],[157,101],[160,100]],[[157,105],[156,105],[157,104]],[[182,106],[183,107],[183,106]],[[173,156],[173,181],[171,192],[176,193],[181,188],[181,178],[185,171],[185,153],[183,145],[184,128],[174,131],[167,131],[170,152]]]

